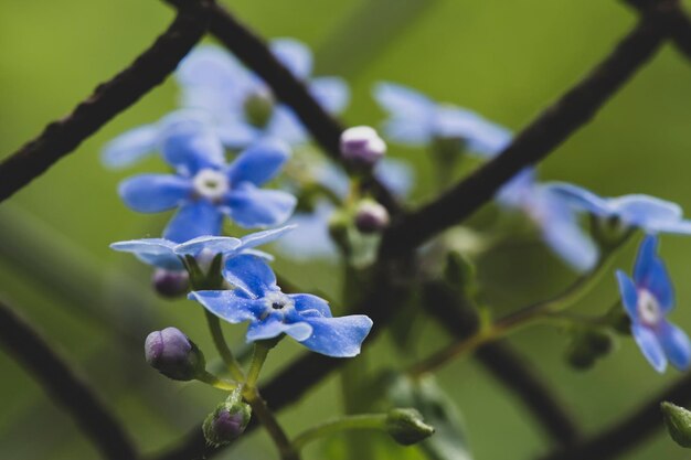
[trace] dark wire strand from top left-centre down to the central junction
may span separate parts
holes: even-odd
[[[176,8],[187,3],[185,0],[166,2]],[[209,31],[247,68],[261,76],[278,99],[293,108],[331,159],[342,163],[339,142],[343,127],[311,96],[305,84],[274,56],[264,39],[215,3],[211,7]],[[390,212],[395,214],[401,211],[397,200],[379,180],[371,178],[366,186]]]

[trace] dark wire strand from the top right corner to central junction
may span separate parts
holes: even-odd
[[[384,254],[397,254],[470,216],[523,168],[554,151],[634,76],[667,38],[668,24],[681,10],[659,1],[595,69],[524,128],[503,152],[433,202],[403,216],[387,232]]]

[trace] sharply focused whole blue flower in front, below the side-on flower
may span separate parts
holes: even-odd
[[[326,300],[308,293],[286,295],[259,257],[241,255],[226,261],[224,278],[233,290],[194,291],[189,298],[230,323],[248,321],[247,342],[286,334],[317,353],[355,356],[372,328],[363,314],[333,318]]]

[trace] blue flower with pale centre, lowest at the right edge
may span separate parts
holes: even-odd
[[[638,249],[634,279],[617,271],[621,302],[631,319],[631,333],[644,356],[657,372],[667,363],[680,371],[691,364],[691,342],[667,320],[674,306],[674,291],[665,264],[657,256],[658,240],[647,236]]]

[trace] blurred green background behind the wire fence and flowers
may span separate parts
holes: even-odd
[[[382,118],[371,85],[390,79],[438,100],[469,107],[520,129],[603,57],[635,23],[615,1],[596,0],[235,0],[234,12],[267,38],[295,36],[317,55],[317,74],[346,76],[353,97],[344,120],[378,125]],[[94,86],[142,51],[172,17],[158,1],[64,0],[0,2],[0,154],[17,150],[49,121],[68,113]],[[213,355],[203,315],[188,301],[166,302],[148,289],[149,269],[111,253],[115,240],[156,236],[167,216],[130,212],[118,200],[119,180],[99,149],[121,131],[158,119],[174,107],[172,82],[157,88],[97,136],[59,162],[31,186],[0,205],[0,296],[38,324],[63,354],[98,385],[109,407],[147,452],[173,445],[221,399],[201,385],[180,385],[146,368],[142,343],[153,329],[177,325]],[[691,208],[691,66],[671,46],[544,162],[544,179],[573,181],[615,195],[642,192]],[[432,196],[425,152],[392,147],[414,162],[414,200]],[[146,161],[136,171],[160,168]],[[677,282],[673,320],[691,330],[691,240],[665,237],[662,255]],[[617,260],[629,268],[634,245]],[[278,269],[307,289],[337,292],[339,269],[279,260]],[[535,245],[511,245],[480,266],[482,287],[498,311],[557,292],[570,274]],[[616,299],[614,276],[582,306],[584,311]],[[237,343],[243,328],[228,328]],[[433,323],[418,350],[446,336]],[[589,372],[563,362],[565,338],[534,328],[511,339],[529,355],[587,432],[628,414],[679,375],[657,375],[630,340]],[[269,359],[279,368],[299,347],[281,343]],[[384,335],[370,364],[395,364]],[[88,459],[96,451],[71,419],[10,357],[0,353],[0,457]],[[549,442],[523,406],[472,361],[439,373],[464,414],[474,458],[531,459]],[[362,395],[366,398],[368,395]],[[340,409],[334,378],[281,413],[295,434]],[[264,435],[244,439],[222,459],[267,459],[275,454]],[[413,448],[414,451],[414,448]],[[320,458],[310,448],[308,458]],[[309,457],[311,456],[311,457]],[[392,450],[391,458],[400,458]],[[413,454],[413,458],[415,456]],[[625,456],[628,460],[681,459],[665,435]]]

